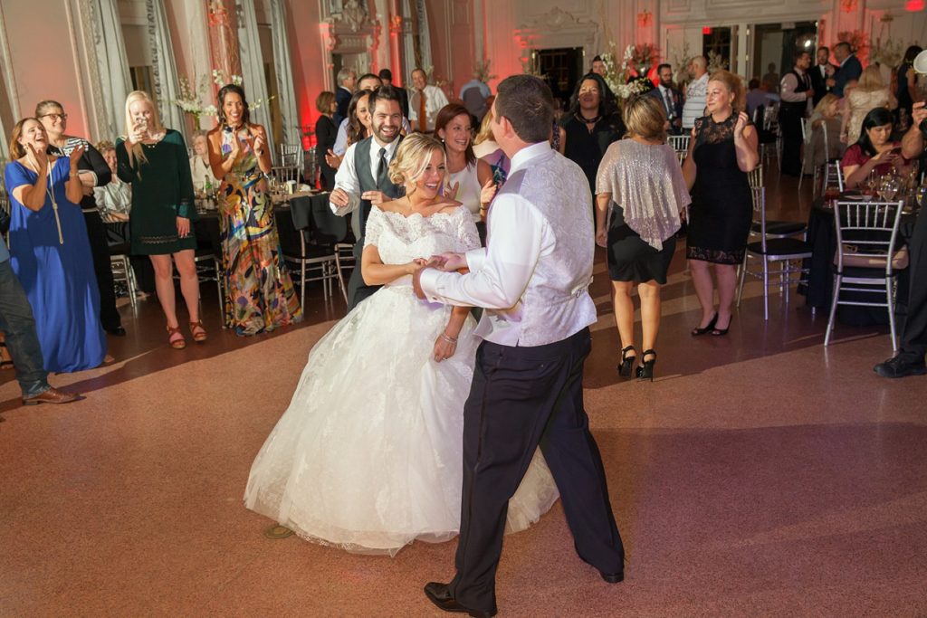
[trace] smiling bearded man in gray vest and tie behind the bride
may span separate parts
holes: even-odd
[[[372,205],[380,205],[400,197],[403,188],[389,180],[389,162],[396,156],[402,139],[402,109],[400,94],[391,86],[382,86],[370,95],[374,134],[345,152],[335,175],[335,190],[328,198],[329,206],[339,217],[353,212],[351,226],[357,243],[354,245],[354,270],[348,283],[348,310],[354,309],[367,296],[380,288],[366,285],[361,276],[363,234]]]

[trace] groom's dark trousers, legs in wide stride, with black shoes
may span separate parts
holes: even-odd
[[[604,573],[623,571],[624,548],[608,500],[599,448],[583,409],[589,328],[546,346],[484,341],[464,406],[464,494],[451,582],[470,610],[496,608],[495,575],[508,500],[540,443],[560,490],[579,557]]]

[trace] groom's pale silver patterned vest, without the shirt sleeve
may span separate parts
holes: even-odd
[[[595,304],[589,296],[589,284],[595,231],[586,175],[576,163],[551,150],[514,171],[499,194],[527,199],[556,238],[552,248],[541,253],[518,305],[505,312],[510,321],[521,322],[518,345],[550,344],[594,323]]]

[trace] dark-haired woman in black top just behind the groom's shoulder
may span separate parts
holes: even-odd
[[[560,154],[582,168],[592,195],[595,195],[595,174],[605,150],[625,134],[624,122],[610,92],[601,75],[583,75],[560,124]]]

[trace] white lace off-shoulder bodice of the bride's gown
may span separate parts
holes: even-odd
[[[445,251],[464,252],[479,246],[470,211],[454,208],[429,217],[371,208],[364,246],[376,246],[384,264],[405,264]]]

